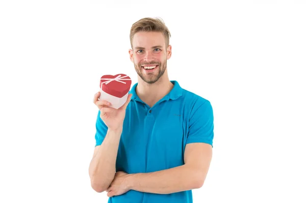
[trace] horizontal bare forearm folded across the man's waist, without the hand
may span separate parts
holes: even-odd
[[[170,194],[201,187],[201,176],[187,165],[149,173],[130,174],[126,184],[139,192]]]

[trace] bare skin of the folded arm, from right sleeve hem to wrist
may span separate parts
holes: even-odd
[[[170,194],[202,187],[212,159],[212,146],[207,143],[186,145],[185,164],[149,173],[135,173],[126,177],[130,190]]]

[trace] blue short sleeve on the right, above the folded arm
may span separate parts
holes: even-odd
[[[186,144],[204,142],[211,144],[213,147],[213,138],[214,115],[212,105],[208,100],[196,102],[190,113]]]

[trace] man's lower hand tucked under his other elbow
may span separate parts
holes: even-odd
[[[111,183],[110,187],[106,190],[107,196],[118,196],[129,191],[129,183],[127,182],[127,177],[130,175],[123,171],[118,171],[115,173],[115,178]]]

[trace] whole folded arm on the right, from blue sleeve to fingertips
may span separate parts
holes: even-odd
[[[107,189],[108,196],[120,195],[128,190],[170,194],[203,185],[212,159],[213,108],[208,100],[198,98],[190,109],[185,164],[150,173],[126,174],[119,171]]]

